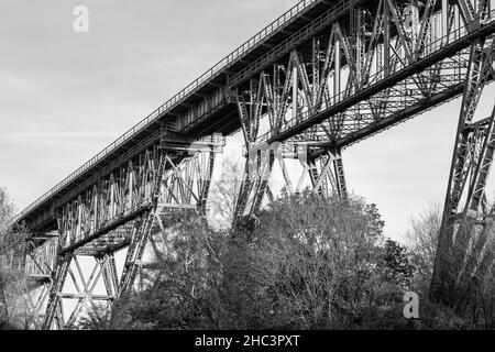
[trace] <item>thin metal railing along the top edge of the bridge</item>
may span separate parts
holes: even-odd
[[[323,0],[302,0],[302,1],[298,2],[296,6],[294,6],[290,10],[285,12],[277,20],[275,20],[274,22],[268,24],[265,29],[263,29],[256,35],[254,35],[249,41],[246,41],[244,44],[242,44],[240,47],[238,47],[234,52],[232,52],[231,54],[226,56],[223,59],[221,59],[217,65],[211,67],[208,72],[202,74],[199,78],[197,78],[195,81],[193,81],[186,88],[180,90],[177,95],[175,95],[167,102],[165,102],[164,105],[158,107],[155,111],[153,111],[144,120],[142,120],[140,123],[134,125],[131,130],[129,130],[122,136],[120,136],[118,140],[116,140],[112,144],[107,146],[105,150],[102,150],[100,153],[98,153],[95,157],[92,157],[90,161],[88,161],[86,164],[84,164],[77,170],[72,173],[68,177],[66,177],[64,180],[62,180],[58,185],[56,185],[54,188],[52,188],[51,190],[45,193],[42,197],[40,197],[37,200],[35,200],[26,209],[24,209],[22,212],[20,212],[15,217],[14,222],[20,221],[25,215],[28,215],[33,209],[35,209],[41,204],[43,204],[48,198],[51,198],[53,195],[55,195],[56,193],[62,190],[65,186],[67,186],[75,178],[77,178],[78,176],[84,174],[86,170],[91,168],[99,161],[101,161],[107,155],[109,155],[111,151],[114,151],[116,148],[118,148],[119,146],[124,144],[128,140],[130,140],[132,136],[134,136],[135,134],[143,131],[147,125],[150,125],[151,123],[156,121],[156,119],[158,119],[158,117],[162,116],[165,111],[169,110],[172,107],[176,106],[180,101],[184,101],[184,99],[188,98],[201,85],[207,82],[213,76],[219,74],[222,69],[224,69],[230,64],[235,62],[240,56],[246,54],[250,50],[252,50],[254,46],[260,44],[262,41],[266,40],[268,36],[274,34],[280,26],[290,22],[293,19],[295,19],[298,14],[300,14],[301,12],[307,10],[309,7],[315,6],[316,3],[321,2],[321,1],[323,1]]]

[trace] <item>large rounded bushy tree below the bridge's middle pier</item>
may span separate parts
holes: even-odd
[[[227,310],[239,329],[363,328],[375,317],[384,222],[374,205],[310,193],[275,201],[230,251]],[[394,290],[394,294],[396,290]],[[378,297],[380,296],[380,297]]]

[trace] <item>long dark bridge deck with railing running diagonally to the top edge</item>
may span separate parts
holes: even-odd
[[[180,90],[172,99],[154,110],[144,120],[125,132],[54,188],[35,200],[16,216],[15,221],[30,222],[32,218],[35,218],[40,213],[53,211],[54,202],[65,197],[67,194],[72,194],[77,185],[94,177],[110,165],[113,165],[116,161],[123,160],[122,155],[130,151],[143,147],[158,139],[160,134],[157,134],[156,131],[160,131],[163,121],[167,121],[167,119],[172,120],[179,116],[182,111],[187,110],[187,107],[202,99],[202,97],[211,92],[212,89],[226,87],[229,75],[238,73],[254,62],[257,57],[270,51],[270,48],[276,46],[298,29],[311,22],[321,12],[332,8],[337,2],[338,0],[305,0],[297,3],[277,20],[268,24],[256,35],[226,56],[194,82]],[[220,125],[222,127],[215,132],[230,134],[239,129],[238,119],[232,117],[231,107],[230,109],[229,107],[222,108],[223,110],[216,112],[219,112],[222,117],[229,118],[233,123],[226,124],[224,121],[220,121]],[[200,131],[200,134],[205,135],[210,133],[211,125],[212,124],[210,124],[209,131]],[[218,127],[218,124],[216,125]]]

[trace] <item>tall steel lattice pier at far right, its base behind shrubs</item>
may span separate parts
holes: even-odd
[[[430,296],[463,312],[470,289],[493,263],[495,208],[488,209],[486,183],[495,150],[495,107],[474,122],[482,92],[493,75],[494,36],[471,45]],[[462,201],[461,201],[462,200]]]

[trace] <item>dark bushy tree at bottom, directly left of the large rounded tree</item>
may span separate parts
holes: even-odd
[[[227,237],[197,215],[177,216],[150,285],[122,297],[108,316],[97,307],[79,329],[220,329]]]

